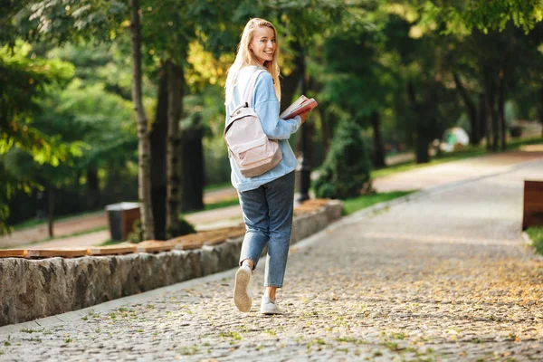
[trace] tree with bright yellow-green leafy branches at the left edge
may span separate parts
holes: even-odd
[[[42,111],[39,100],[48,87],[66,84],[73,68],[60,61],[27,59],[28,49],[24,43],[0,48],[0,168],[5,168],[1,158],[12,148],[27,152],[39,164],[55,167],[79,152],[79,144],[64,143],[30,125]],[[10,231],[6,224],[9,200],[16,190],[28,193],[39,182],[33,176],[2,172],[0,184],[0,233],[6,233]]]

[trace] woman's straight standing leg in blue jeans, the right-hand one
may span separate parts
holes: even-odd
[[[275,290],[282,287],[289,246],[291,243],[292,212],[294,207],[294,172],[263,186],[270,210],[270,241],[264,286],[275,299]]]

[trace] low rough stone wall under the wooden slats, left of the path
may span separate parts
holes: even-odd
[[[342,204],[330,201],[309,214],[295,215],[291,243],[341,217]],[[0,259],[0,326],[79,310],[180,281],[232,269],[243,237],[190,251],[86,256],[76,259]]]

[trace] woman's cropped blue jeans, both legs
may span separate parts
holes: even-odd
[[[250,259],[256,268],[268,243],[264,286],[281,288],[291,243],[294,172],[238,195],[245,222],[240,265]]]

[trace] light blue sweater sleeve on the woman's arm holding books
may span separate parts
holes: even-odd
[[[254,110],[261,119],[262,129],[270,139],[289,139],[301,126],[300,116],[279,118],[279,100],[273,88],[273,79],[267,71],[258,75],[252,99]]]

